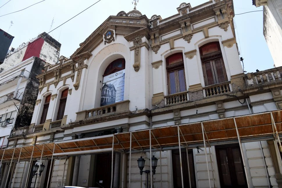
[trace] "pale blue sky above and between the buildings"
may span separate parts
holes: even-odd
[[[0,6],[8,2],[0,8],[0,28],[15,37],[12,47],[17,48],[44,31],[48,33],[98,0],[45,0],[25,10],[1,16],[39,1],[42,0],[0,0]],[[194,7],[207,1],[187,0],[186,3]],[[253,6],[252,0],[233,1],[235,14],[263,9]],[[139,0],[137,10],[149,19],[152,15],[160,15],[164,19],[177,14],[176,8],[181,3],[183,0]],[[129,12],[133,8],[132,0],[100,0],[49,35],[62,44],[60,55],[69,57],[110,15],[117,15],[122,10]],[[235,15],[234,22],[240,57],[244,58],[244,70],[256,72],[256,69],[261,71],[273,68],[274,62],[263,36],[263,11]]]

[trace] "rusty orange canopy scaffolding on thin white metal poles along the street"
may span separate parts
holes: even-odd
[[[32,160],[40,159],[41,162],[41,160],[51,159],[52,162],[54,158],[66,158],[72,155],[85,155],[92,153],[112,152],[112,174],[113,174],[113,153],[120,152],[123,154],[122,187],[124,187],[125,155],[129,154],[128,185],[130,187],[132,153],[149,152],[151,156],[152,151],[161,152],[178,147],[180,152],[179,155],[180,161],[181,161],[182,148],[186,149],[187,160],[188,160],[188,148],[196,148],[197,146],[201,146],[204,147],[205,150],[209,187],[211,188],[212,185],[210,182],[210,177],[211,176],[213,177],[214,187],[215,187],[215,178],[213,174],[212,164],[211,164],[212,175],[210,175],[209,166],[208,166],[208,154],[206,149],[207,148],[209,149],[209,157],[212,163],[210,146],[227,144],[227,143],[239,143],[240,151],[243,159],[244,171],[247,179],[247,185],[248,187],[250,187],[247,177],[248,173],[244,161],[245,157],[242,149],[242,142],[254,142],[261,140],[277,139],[279,142],[279,147],[282,151],[282,146],[279,139],[279,134],[281,133],[282,133],[282,110],[275,110],[270,112],[249,114],[249,115],[237,116],[237,117],[229,117],[224,119],[215,119],[215,120],[187,123],[187,124],[181,124],[175,126],[136,130],[126,133],[116,133],[113,135],[103,135],[103,136],[97,136],[91,138],[7,148],[4,150],[0,150],[0,156],[2,155],[0,166],[2,162],[10,162],[11,164],[13,160],[14,162],[16,162],[16,160],[17,162],[30,160],[30,166],[28,168],[28,171],[30,171]],[[180,167],[181,167],[182,187],[184,187],[182,163],[180,163]],[[151,157],[150,157],[150,169],[152,170]],[[17,170],[17,166],[16,166],[16,170]],[[50,179],[50,175],[51,175],[51,170],[49,171],[48,180]],[[150,176],[152,180],[152,173]],[[113,182],[113,175],[111,179],[112,179],[111,182]],[[190,180],[190,173],[189,173],[189,180]],[[113,184],[111,184],[111,187],[112,186]],[[49,185],[47,185],[47,187],[49,187]],[[151,181],[151,188],[152,187],[153,187],[153,182]]]

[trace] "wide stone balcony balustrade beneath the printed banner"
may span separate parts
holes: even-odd
[[[76,112],[76,120],[87,119],[89,117],[96,117],[106,114],[111,114],[114,112],[125,112],[129,110],[129,100],[121,101],[118,103],[101,106],[98,108],[93,108],[90,110],[84,110],[81,112]]]

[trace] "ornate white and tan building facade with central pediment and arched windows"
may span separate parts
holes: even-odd
[[[233,1],[177,11],[121,11],[46,65],[1,187],[281,187],[282,68],[243,73]]]

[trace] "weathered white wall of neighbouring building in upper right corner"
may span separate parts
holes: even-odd
[[[263,35],[274,65],[282,66],[282,2],[280,0],[253,0],[256,7],[263,6]]]

